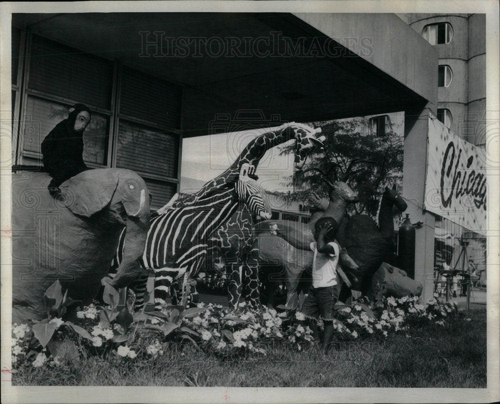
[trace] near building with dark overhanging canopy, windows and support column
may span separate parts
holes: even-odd
[[[431,296],[434,216],[422,206],[438,51],[397,15],[23,13],[12,24],[14,164],[39,165],[43,137],[83,102],[94,111],[85,161],[137,171],[153,208],[179,191],[182,139],[222,115],[259,108],[276,126],[404,112],[403,196],[423,223],[415,278]]]

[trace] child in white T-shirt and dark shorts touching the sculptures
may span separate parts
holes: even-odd
[[[324,324],[323,353],[326,354],[333,339],[333,313],[338,299],[336,269],[339,258],[338,244],[333,240],[338,231],[338,224],[332,217],[322,217],[314,224],[315,242],[303,243],[295,238],[289,238],[279,230],[276,234],[293,247],[301,250],[312,250],[312,286],[304,301],[302,313],[309,319],[309,325],[314,338],[319,341],[316,321],[321,316]]]

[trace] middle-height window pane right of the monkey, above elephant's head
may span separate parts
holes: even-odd
[[[120,119],[116,167],[177,178],[178,137]]]

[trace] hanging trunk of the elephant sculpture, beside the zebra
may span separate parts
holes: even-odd
[[[142,270],[139,265],[138,258],[140,258],[144,252],[148,227],[149,214],[147,215],[147,218],[126,218],[123,257],[116,271],[116,275],[112,281],[109,282],[113,288],[124,288],[141,274]]]

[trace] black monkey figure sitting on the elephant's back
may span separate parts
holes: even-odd
[[[69,115],[48,133],[41,143],[43,167],[52,180],[50,195],[56,196],[59,185],[76,174],[88,170],[83,162],[83,131],[90,122],[90,110],[83,104],[74,104]]]

